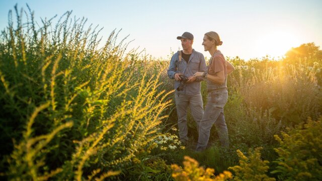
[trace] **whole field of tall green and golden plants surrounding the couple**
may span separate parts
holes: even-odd
[[[101,30],[70,12],[39,24],[28,10],[15,7],[0,36],[0,178],[322,178],[319,56],[227,57],[230,147],[213,127],[209,148],[194,152],[191,115],[191,142],[178,140],[170,59],[128,50],[116,30],[102,45]],[[204,105],[206,94],[202,82]]]

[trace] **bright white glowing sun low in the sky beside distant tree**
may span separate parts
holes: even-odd
[[[298,46],[298,39],[290,31],[274,31],[263,33],[257,41],[255,54],[282,57],[292,47]]]

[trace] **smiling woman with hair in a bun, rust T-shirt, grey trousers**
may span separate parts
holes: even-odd
[[[223,54],[217,49],[222,45],[219,35],[216,32],[208,32],[203,38],[202,45],[205,51],[209,51],[211,58],[206,72],[196,72],[195,77],[204,77],[207,80],[208,102],[204,115],[200,122],[199,137],[196,151],[206,149],[210,129],[216,125],[219,140],[223,147],[229,147],[228,130],[223,114],[223,107],[228,99],[227,74],[234,70],[234,67],[225,60]]]

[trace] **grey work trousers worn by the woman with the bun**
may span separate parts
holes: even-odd
[[[229,147],[228,130],[223,114],[223,107],[225,106],[227,99],[227,90],[208,93],[208,102],[199,125],[199,137],[196,151],[206,149],[213,124],[215,124],[217,128],[221,145],[223,147]]]

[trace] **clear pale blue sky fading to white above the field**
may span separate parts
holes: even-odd
[[[0,30],[8,25],[8,12],[28,10],[26,3],[41,18],[56,20],[66,11],[72,17],[88,18],[88,25],[104,27],[107,40],[114,29],[122,29],[120,39],[130,35],[130,48],[146,49],[153,57],[170,55],[181,48],[176,39],[188,31],[195,37],[193,48],[209,57],[201,45],[204,33],[215,31],[223,41],[218,49],[225,56],[245,60],[282,56],[291,47],[314,42],[322,48],[321,0],[270,1],[72,1],[72,0],[0,0]],[[14,17],[16,18],[16,17]],[[15,19],[14,19],[15,20]]]

